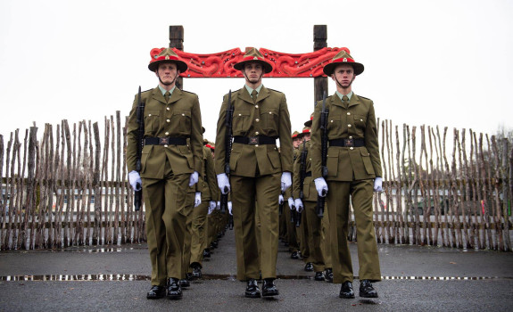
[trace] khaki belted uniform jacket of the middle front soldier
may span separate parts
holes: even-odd
[[[275,144],[233,144],[230,173],[240,177],[257,177],[257,168],[261,176],[292,172],[293,145],[285,94],[262,86],[255,105],[243,87],[232,92],[231,99],[234,105],[233,135],[268,135],[278,138],[281,152],[278,152]],[[228,94],[223,98],[218,120],[215,154],[218,175],[225,173],[227,107]]]

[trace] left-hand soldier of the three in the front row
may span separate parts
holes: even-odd
[[[159,85],[142,93],[145,102],[144,147],[140,177],[137,162],[137,96],[128,119],[127,164],[130,185],[142,184],[146,235],[152,261],[152,289],[146,298],[181,299],[186,217],[203,166],[202,118],[198,96],[175,86],[185,62],[170,48],[153,49],[148,69]],[[190,139],[190,144],[187,144]],[[141,181],[142,178],[142,181]],[[137,185],[139,184],[139,185]],[[201,193],[196,193],[196,204]]]

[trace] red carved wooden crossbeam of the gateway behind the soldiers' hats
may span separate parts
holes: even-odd
[[[265,74],[264,77],[314,78],[327,77],[323,73],[322,69],[335,57],[336,53],[340,52],[341,49],[344,49],[346,52],[349,51],[347,48],[338,47],[325,47],[315,52],[298,54],[281,53],[265,48],[260,48],[259,51],[263,55],[265,61],[273,65],[273,70],[268,74]],[[240,70],[233,68],[237,62],[244,61],[244,53],[241,52],[239,48],[211,54],[186,53],[177,49],[173,49],[173,51],[175,51],[182,61],[186,62],[189,67],[186,72],[180,73],[181,77],[244,77]],[[352,60],[352,62],[354,61]]]

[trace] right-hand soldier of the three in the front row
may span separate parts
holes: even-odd
[[[319,195],[323,190],[327,191],[333,282],[342,283],[341,298],[354,298],[352,262],[347,242],[350,201],[357,225],[360,297],[376,298],[377,292],[372,282],[381,280],[372,222],[373,190],[381,192],[382,189],[374,103],[352,92],[352,81],[363,69],[362,64],[354,62],[347,48],[343,48],[324,67],[324,73],[336,83],[336,93],[326,99],[329,109],[327,183],[321,174],[319,127],[322,102],[316,105],[311,129],[312,178]]]

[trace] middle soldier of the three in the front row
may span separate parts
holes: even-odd
[[[261,53],[252,48],[234,66],[241,70],[245,86],[232,93],[234,143],[225,172],[226,113],[228,94],[219,112],[215,168],[221,192],[231,188],[236,231],[237,278],[247,281],[245,296],[276,296],[278,197],[292,185],[291,124],[285,94],[266,88],[261,78],[272,70]],[[276,140],[279,139],[281,152]],[[255,205],[261,220],[261,252],[255,237]],[[262,291],[256,283],[264,279]]]

